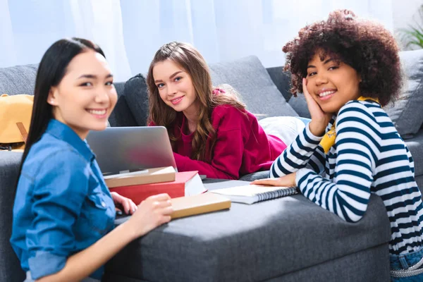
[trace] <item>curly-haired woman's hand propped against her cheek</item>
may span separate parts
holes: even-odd
[[[332,113],[325,113],[319,104],[313,99],[312,95],[307,90],[307,80],[302,78],[302,92],[304,92],[307,106],[312,116],[312,121],[309,123],[309,129],[314,136],[322,136],[331,121]]]

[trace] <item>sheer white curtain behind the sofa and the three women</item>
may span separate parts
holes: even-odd
[[[85,37],[116,81],[146,73],[155,51],[190,42],[208,63],[256,55],[281,66],[281,47],[307,23],[348,8],[393,31],[386,0],[0,0],[0,67],[38,63],[57,39]]]

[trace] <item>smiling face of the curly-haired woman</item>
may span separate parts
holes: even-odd
[[[354,68],[326,56],[314,54],[307,66],[307,90],[326,113],[338,113],[350,100],[360,97],[360,75]]]

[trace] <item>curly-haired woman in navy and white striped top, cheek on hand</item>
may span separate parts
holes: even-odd
[[[422,195],[410,151],[383,109],[402,86],[395,39],[379,24],[334,11],[283,51],[292,92],[304,92],[312,121],[272,165],[276,179],[254,183],[297,185],[348,222],[362,219],[370,195],[379,195],[391,222],[392,281],[423,281]]]

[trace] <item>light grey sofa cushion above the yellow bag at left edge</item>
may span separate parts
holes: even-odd
[[[0,94],[34,94],[38,64],[0,68]]]

